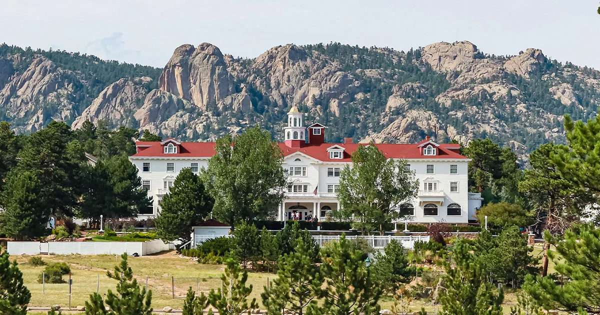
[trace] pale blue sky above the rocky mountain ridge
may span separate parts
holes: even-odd
[[[163,67],[185,43],[256,57],[272,46],[339,41],[407,50],[469,40],[485,53],[542,49],[600,68],[598,0],[2,0],[0,43]]]

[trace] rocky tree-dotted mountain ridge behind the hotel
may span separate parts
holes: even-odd
[[[415,142],[429,135],[466,143],[490,137],[524,155],[563,142],[563,115],[598,112],[600,73],[514,56],[469,41],[407,52],[338,43],[267,50],[253,59],[202,43],[175,49],[162,71],[79,53],[0,46],[0,119],[19,132],[52,119],[78,128],[104,119],[182,140],[209,140],[261,125],[280,137],[298,105],[328,140]]]

